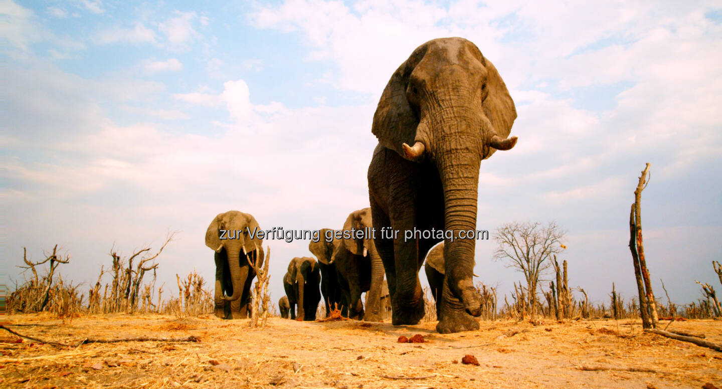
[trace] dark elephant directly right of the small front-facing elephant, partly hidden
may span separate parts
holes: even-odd
[[[321,268],[321,294],[323,301],[326,303],[326,316],[331,314],[331,310],[336,307],[341,310],[343,316],[348,316],[348,302],[343,298],[341,287],[339,286],[339,272],[336,271],[336,264],[331,263],[331,255],[334,255],[334,246],[339,245],[340,240],[334,240],[333,230],[323,228],[319,231],[318,242],[311,240],[308,243],[308,250],[316,255],[318,267]],[[326,234],[331,239],[326,239]]]

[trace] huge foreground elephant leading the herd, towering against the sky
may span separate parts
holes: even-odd
[[[378,146],[368,185],[375,229],[401,235],[377,234],[375,239],[394,325],[423,318],[419,269],[427,251],[444,240],[436,330],[479,328],[475,317],[481,307],[472,282],[476,242],[466,233],[477,227],[480,163],[495,150],[514,147],[516,136],[507,136],[515,119],[514,102],[497,69],[463,38],[420,45],[388,81],[373,117]],[[404,239],[414,228],[431,233]]]

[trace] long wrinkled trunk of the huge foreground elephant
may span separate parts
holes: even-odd
[[[464,123],[461,127],[464,127]],[[474,274],[476,246],[475,233],[471,232],[477,230],[477,188],[481,162],[478,147],[481,145],[474,136],[466,138],[464,134],[457,134],[454,138],[458,143],[444,150],[437,160],[443,185],[445,230],[453,233],[452,239],[445,240],[445,279],[453,296],[461,300],[448,303],[451,306],[458,305],[457,309],[464,309],[469,315],[479,316],[481,304],[471,278]],[[460,232],[464,238],[460,237]]]

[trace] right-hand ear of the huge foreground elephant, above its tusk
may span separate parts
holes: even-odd
[[[481,53],[479,53],[479,55],[481,55]],[[499,75],[499,71],[497,71],[494,64],[492,64],[492,61],[482,56],[482,64],[484,64],[484,67],[487,69],[487,88],[489,89],[487,98],[482,103],[484,115],[492,122],[496,134],[502,139],[506,139],[516,119],[514,100],[511,99],[511,95],[509,95],[509,91],[506,89],[506,84]],[[484,159],[491,157],[495,151],[496,149],[490,147],[489,153]]]

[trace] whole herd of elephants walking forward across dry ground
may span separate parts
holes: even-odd
[[[343,227],[401,233],[326,242],[321,230],[321,240],[309,245],[316,259],[289,263],[282,315],[313,320],[322,294],[327,314],[337,307],[349,318],[377,321],[390,306],[393,325],[417,324],[425,313],[419,270],[436,245],[425,269],[437,304],[436,330],[478,329],[476,241],[465,232],[476,230],[481,162],[514,147],[517,138],[509,134],[515,119],[503,79],[474,43],[439,38],[416,48],[393,72],[373,116],[378,145],[367,173],[370,207],[351,212]],[[206,232],[206,245],[215,250],[219,317],[247,315],[253,264],[264,261],[258,237],[219,239],[220,230],[246,226],[253,230],[258,223],[250,214],[229,211]],[[412,230],[444,233],[407,239],[404,232]]]

